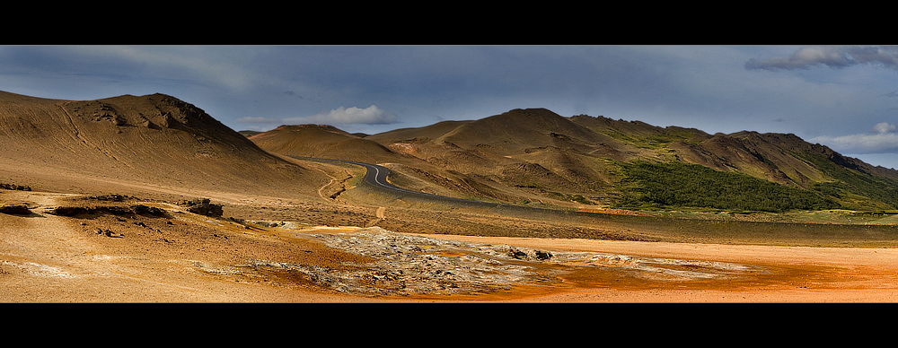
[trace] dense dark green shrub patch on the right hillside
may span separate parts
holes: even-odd
[[[636,161],[622,163],[622,169],[623,194],[612,204],[617,208],[783,213],[840,207],[816,191],[697,164]]]

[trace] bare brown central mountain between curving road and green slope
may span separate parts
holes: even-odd
[[[614,170],[603,159],[647,156],[644,149],[547,109],[514,109],[365,139],[541,199],[602,195]]]

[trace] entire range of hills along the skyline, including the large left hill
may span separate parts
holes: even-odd
[[[796,135],[513,109],[376,135],[334,126],[235,132],[172,96],[50,100],[0,91],[0,182],[316,196],[331,178],[285,156],[382,164],[401,187],[580,209],[898,210],[898,170]]]

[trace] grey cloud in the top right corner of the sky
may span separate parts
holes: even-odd
[[[801,48],[789,57],[751,58],[745,62],[745,69],[773,71],[807,69],[815,65],[842,68],[862,64],[883,65],[898,70],[898,47],[814,46]]]

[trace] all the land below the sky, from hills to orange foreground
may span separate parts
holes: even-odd
[[[0,97],[6,302],[898,294],[898,175],[794,135],[546,109],[380,135],[322,125],[241,135],[162,94]],[[400,189],[365,181],[376,168]],[[778,205],[720,205],[748,196],[719,189],[682,199],[653,189],[660,178],[763,187],[751,200]]]

